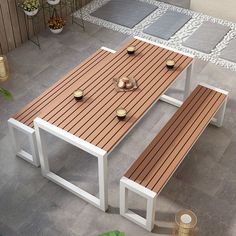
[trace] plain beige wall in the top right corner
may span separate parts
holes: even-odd
[[[190,9],[236,23],[236,0],[191,0]]]

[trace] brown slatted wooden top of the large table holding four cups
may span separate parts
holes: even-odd
[[[127,54],[129,45],[136,47],[134,55]],[[176,61],[174,70],[166,68],[168,58]],[[110,152],[191,62],[191,57],[132,39],[101,63],[77,73],[39,117]],[[117,92],[113,78],[122,76],[133,76],[138,89]],[[73,97],[78,88],[85,94],[81,101]],[[123,121],[116,117],[118,107],[128,112]]]

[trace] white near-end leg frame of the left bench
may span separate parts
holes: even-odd
[[[21,157],[22,159],[28,161],[32,165],[38,167],[39,166],[39,156],[38,156],[38,149],[36,143],[36,136],[34,129],[22,124],[21,122],[10,118],[8,120],[8,127],[10,136],[12,139],[12,146],[15,155]],[[29,141],[29,148],[30,153],[23,150],[17,140],[16,130],[20,131],[21,133],[27,135]]]

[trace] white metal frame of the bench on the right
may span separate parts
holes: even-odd
[[[218,89],[216,87],[204,84],[204,83],[200,83],[200,85],[226,95],[224,102],[219,107],[219,109],[216,111],[216,113],[213,115],[212,120],[209,122],[217,127],[221,127],[223,125],[225,109],[226,109],[226,104],[227,104],[227,99],[228,99],[228,92],[224,91],[222,89]],[[206,125],[206,127],[207,126],[208,126],[208,124]],[[205,129],[206,129],[206,127],[205,127]],[[199,137],[200,136],[201,135],[199,135]],[[192,147],[194,146],[194,144],[195,143],[192,144]],[[189,151],[191,150],[191,148],[189,149]],[[185,157],[187,156],[187,154],[185,155]],[[185,159],[185,157],[183,158],[183,160]],[[181,163],[179,163],[179,165]],[[179,165],[176,167],[176,169],[179,167]],[[171,176],[170,176],[170,178],[171,178]],[[164,188],[164,186],[163,186],[163,188]],[[147,200],[146,219],[128,209],[128,190],[140,195],[141,197],[143,197]],[[143,187],[142,185],[130,180],[127,177],[122,177],[120,180],[120,214],[122,216],[124,216],[125,218],[131,220],[132,222],[138,224],[139,226],[145,228],[146,230],[152,231],[152,229],[154,227],[154,221],[155,221],[156,200],[157,200],[157,196],[159,193],[153,192],[150,189]]]

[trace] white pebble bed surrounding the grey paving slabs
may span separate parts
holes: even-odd
[[[180,51],[191,53],[195,55],[197,58],[204,60],[204,61],[210,61],[211,63],[214,63],[216,65],[220,65],[222,67],[231,69],[233,71],[236,71],[236,63],[224,60],[220,58],[221,51],[227,47],[230,40],[236,38],[236,24],[233,22],[229,22],[222,19],[217,19],[208,15],[204,15],[199,12],[194,12],[188,9],[180,8],[177,6],[173,6],[167,3],[159,2],[156,0],[140,0],[144,2],[148,2],[150,4],[154,4],[158,6],[158,9],[155,10],[153,13],[151,13],[148,17],[146,17],[143,21],[141,21],[139,24],[137,24],[133,29],[129,29],[127,27],[117,25],[96,17],[93,17],[90,15],[91,12],[95,11],[96,9],[100,8],[102,5],[106,4],[110,0],[93,0],[91,3],[86,5],[83,8],[83,17],[86,21],[89,21],[91,23],[106,27],[108,29],[112,29],[115,31],[119,31],[123,34],[128,34],[131,36],[140,36],[149,40],[152,40],[154,42],[158,42],[160,44],[176,48]],[[165,13],[167,10],[177,11],[181,12],[183,14],[187,14],[192,16],[192,19],[182,28],[180,29],[175,35],[173,35],[168,41],[159,39],[157,37],[150,36],[148,34],[143,33],[143,29],[147,28],[150,24],[152,24],[156,19],[158,19],[163,13]],[[76,17],[80,17],[79,13],[75,13]],[[186,48],[182,45],[182,43],[195,31],[199,28],[199,26],[204,21],[211,21],[214,23],[218,23],[221,25],[229,26],[230,31],[228,34],[224,37],[224,39],[216,46],[216,48],[212,51],[210,54],[205,54],[190,48]]]

